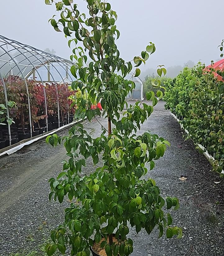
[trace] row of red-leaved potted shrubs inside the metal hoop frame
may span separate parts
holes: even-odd
[[[45,92],[47,99],[48,116],[45,114],[45,100],[43,85],[34,80],[26,81],[29,90],[30,108],[32,116],[32,137],[47,131],[46,118],[48,118],[48,131],[58,128],[57,116],[57,90],[60,109],[60,127],[71,123],[74,116],[74,108],[70,109],[76,91],[71,91],[68,85],[46,83]],[[9,76],[5,80],[7,98],[15,102],[10,108],[10,118],[15,123],[11,124],[11,144],[31,137],[29,123],[28,97],[25,82],[17,76]],[[0,103],[5,102],[3,86],[0,84]],[[70,116],[68,116],[68,113]],[[0,149],[9,146],[9,132],[7,125],[0,126]]]

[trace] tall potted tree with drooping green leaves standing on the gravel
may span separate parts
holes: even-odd
[[[154,160],[162,157],[170,145],[149,132],[136,135],[152,114],[157,98],[149,91],[146,99],[152,100],[153,106],[143,101],[128,106],[125,101],[135,88],[134,82],[126,76],[133,68],[134,75],[140,75],[139,66],[155,51],[155,46],[149,43],[132,62],[126,62],[115,44],[120,35],[115,25],[116,12],[109,2],[86,2],[88,17],[80,14],[73,0],[63,0],[56,3],[60,19],[53,18],[50,22],[56,31],[64,31],[67,37],[75,34],[68,41],[69,46],[75,44],[71,59],[77,61],[71,67],[76,79],[72,89],[80,89],[82,95],[85,91],[89,94],[88,100],[81,96],[73,103],[77,105],[75,118],[87,117],[89,121],[96,119],[100,123],[101,112],[91,109],[91,105],[101,102],[102,116],[107,118],[108,126],[101,125],[102,133],[98,138],[90,137],[79,123],[70,129],[68,136],[61,138],[54,134],[46,139],[52,146],[64,141],[69,157],[68,161],[63,161],[63,171],[49,180],[49,199],[62,203],[66,196],[71,200],[70,207],[65,209],[64,223],[52,231],[53,242],[46,245],[46,251],[48,255],[53,255],[57,249],[62,254],[67,249],[77,256],[89,256],[90,250],[93,255],[130,255],[133,252],[133,241],[128,236],[130,227],[135,227],[137,233],[145,229],[148,234],[157,228],[158,237],[164,232],[167,238],[182,235],[181,228],[171,226],[171,215],[163,210],[165,201],[167,209],[178,209],[178,199],[163,199],[155,181],[144,179],[148,172],[146,166],[153,169]],[[159,77],[164,73],[165,68],[160,66],[158,78],[152,81],[159,88],[158,98],[162,97]],[[96,169],[83,174],[88,158],[93,159]],[[99,162],[99,158],[102,161]]]

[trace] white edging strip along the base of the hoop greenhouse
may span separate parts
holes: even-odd
[[[85,120],[85,119],[86,119],[86,117],[84,118],[84,120]],[[6,155],[6,154],[7,154],[7,155],[11,155],[12,153],[15,153],[16,151],[20,150],[21,148],[23,148],[23,147],[26,146],[26,145],[30,145],[30,144],[34,143],[35,141],[41,140],[41,139],[43,139],[43,138],[46,138],[48,135],[51,135],[51,134],[53,134],[53,133],[57,133],[57,132],[60,132],[60,131],[62,131],[62,130],[65,130],[66,128],[69,128],[69,127],[72,126],[73,124],[79,123],[79,122],[82,121],[82,120],[83,120],[83,119],[79,119],[79,120],[73,121],[72,123],[68,123],[68,124],[66,124],[66,125],[64,125],[64,126],[62,126],[62,127],[60,127],[60,128],[57,128],[57,129],[55,129],[55,130],[53,130],[53,131],[51,131],[51,132],[48,132],[48,133],[44,134],[43,136],[40,136],[40,137],[38,137],[38,138],[34,138],[34,139],[32,139],[32,140],[29,140],[29,141],[27,141],[27,142],[24,142],[24,143],[22,143],[22,144],[20,144],[20,145],[18,145],[18,146],[16,146],[16,147],[12,147],[12,148],[10,148],[10,149],[8,149],[8,150],[6,150],[6,151],[0,153],[0,157],[3,156],[3,155]]]

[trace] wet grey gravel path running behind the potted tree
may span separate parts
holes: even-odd
[[[101,120],[106,124],[106,120]],[[100,133],[96,121],[85,122],[92,136]],[[185,141],[179,124],[159,102],[142,126],[167,139],[171,147],[146,175],[155,179],[162,195],[176,196],[180,209],[172,212],[173,224],[183,228],[182,239],[158,239],[158,230],[148,236],[135,234],[133,256],[223,255],[224,183],[191,141]],[[67,131],[61,132],[66,134]],[[11,156],[0,158],[0,255],[45,256],[49,230],[63,220],[64,208],[49,202],[48,179],[57,176],[65,159],[63,146],[52,148],[37,142]],[[91,165],[84,172],[93,169]],[[186,179],[179,179],[185,177]],[[216,184],[215,182],[221,181]]]

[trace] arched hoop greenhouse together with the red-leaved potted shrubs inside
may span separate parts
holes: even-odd
[[[0,110],[13,120],[11,125],[7,120],[0,122],[5,124],[1,125],[0,149],[73,120],[69,108],[75,97],[69,89],[73,64],[0,36],[0,104],[4,108]]]

